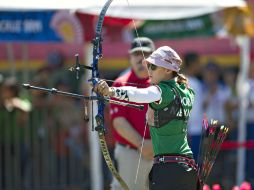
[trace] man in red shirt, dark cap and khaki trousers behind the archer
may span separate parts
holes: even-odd
[[[131,69],[119,76],[113,86],[148,87],[150,85],[148,72],[142,60],[154,50],[155,46],[151,39],[135,38],[129,50]],[[148,189],[148,174],[152,167],[153,149],[149,129],[145,128],[145,119],[140,119],[145,118],[146,111],[147,105],[143,111],[115,104],[110,105],[113,135],[116,140],[115,160],[120,176],[130,189]],[[121,189],[116,179],[113,179],[111,188],[112,190]]]

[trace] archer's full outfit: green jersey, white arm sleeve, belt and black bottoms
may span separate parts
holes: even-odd
[[[187,142],[187,121],[194,91],[185,84],[178,84],[175,79],[145,89],[125,86],[114,90],[115,98],[149,103],[146,121],[155,154],[149,189],[198,189],[195,161]]]

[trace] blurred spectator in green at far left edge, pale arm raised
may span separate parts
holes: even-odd
[[[17,176],[22,181],[22,187],[25,186],[25,171],[28,164],[28,146],[24,141],[24,129],[28,124],[28,112],[31,110],[31,104],[28,101],[19,98],[19,87],[16,78],[6,78],[1,89],[2,107],[0,110],[0,144],[3,168],[3,185],[7,186],[8,178],[14,176],[12,163],[17,161],[20,167],[20,173]],[[8,172],[7,172],[8,170]],[[7,175],[7,173],[9,175]]]

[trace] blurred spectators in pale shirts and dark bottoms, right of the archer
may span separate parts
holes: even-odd
[[[234,185],[237,167],[237,135],[239,124],[239,90],[243,90],[239,84],[237,86],[238,67],[221,67],[213,60],[209,60],[204,65],[200,65],[198,54],[190,52],[184,57],[184,72],[189,78],[190,86],[196,93],[196,100],[193,106],[193,114],[189,122],[189,142],[194,152],[194,157],[198,160],[198,144],[201,137],[200,123],[204,113],[209,120],[219,120],[222,125],[229,127],[227,142],[235,142],[229,149],[222,149],[213,167],[209,184],[219,183],[222,189],[229,189]],[[249,68],[247,94],[247,115],[246,115],[246,141],[253,142],[254,139],[254,64]],[[198,126],[198,127],[197,127]],[[246,143],[251,144],[251,143]],[[247,181],[254,184],[254,160],[253,146],[245,147],[246,166],[245,177]]]

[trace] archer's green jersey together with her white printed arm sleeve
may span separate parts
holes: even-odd
[[[181,154],[192,157],[187,142],[187,120],[195,97],[191,88],[172,79],[144,89],[124,86],[114,90],[115,98],[149,103],[146,121],[155,155]]]

